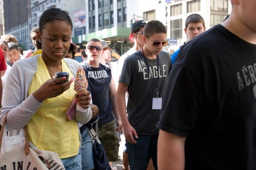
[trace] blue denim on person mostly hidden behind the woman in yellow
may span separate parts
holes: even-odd
[[[92,170],[94,169],[93,142],[87,128],[81,133],[81,138],[82,170]]]

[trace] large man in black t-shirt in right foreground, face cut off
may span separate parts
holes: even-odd
[[[158,170],[256,169],[256,1],[180,50],[157,127]]]

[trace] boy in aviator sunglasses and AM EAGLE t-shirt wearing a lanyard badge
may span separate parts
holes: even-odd
[[[146,23],[142,35],[144,46],[125,59],[119,78],[116,102],[128,142],[131,170],[146,170],[150,158],[157,170],[159,130],[155,125],[160,117],[165,82],[172,67],[169,54],[162,51],[167,45],[166,36],[166,27],[160,21]],[[127,108],[126,91],[129,94]]]

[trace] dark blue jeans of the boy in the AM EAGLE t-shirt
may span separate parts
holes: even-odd
[[[157,135],[138,135],[137,142],[127,142],[130,170],[146,170],[149,159],[152,158],[154,168],[157,170]]]

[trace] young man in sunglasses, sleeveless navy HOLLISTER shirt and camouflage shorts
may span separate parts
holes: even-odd
[[[118,160],[119,144],[116,131],[122,131],[122,122],[116,106],[116,87],[109,65],[99,62],[103,54],[102,42],[94,38],[88,41],[86,46],[87,60],[82,62],[81,66],[85,70],[90,85],[93,104],[99,108],[99,139],[111,165],[112,161]],[[116,117],[117,128],[114,125],[112,109]]]

